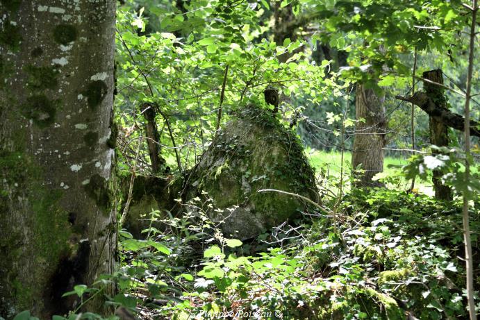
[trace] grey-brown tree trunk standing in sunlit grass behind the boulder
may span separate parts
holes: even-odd
[[[386,120],[383,96],[372,89],[358,84],[355,96],[356,119],[354,150],[351,153],[351,165],[355,172],[356,186],[378,187],[381,183],[373,181],[375,174],[383,171],[383,147],[385,146]]]

